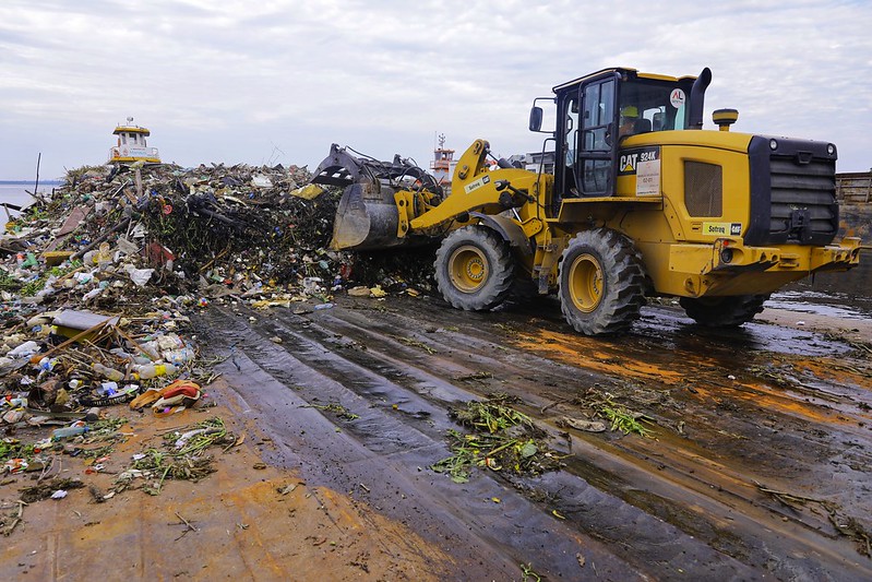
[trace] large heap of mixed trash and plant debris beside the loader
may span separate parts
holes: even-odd
[[[83,167],[10,218],[0,238],[2,472],[45,472],[46,453],[103,442],[111,406],[154,416],[203,406],[212,378],[188,314],[211,301],[327,307],[335,293],[430,290],[432,259],[329,250],[341,192],[310,178],[280,165]],[[127,474],[176,472],[144,463]]]

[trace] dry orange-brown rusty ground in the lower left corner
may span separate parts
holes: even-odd
[[[132,414],[121,406],[111,411]],[[120,471],[132,453],[157,446],[162,431],[222,413],[227,411],[134,415],[133,426],[121,430],[136,435],[117,448],[106,472]],[[96,503],[85,487],[69,490],[64,499],[26,506],[23,521],[3,539],[0,579],[417,581],[439,579],[441,566],[451,562],[438,547],[365,503],[265,466],[249,442],[226,454],[211,452],[216,473],[198,483],[164,482],[157,496],[129,489]],[[85,474],[80,459],[64,456],[60,475],[106,491],[114,476]],[[21,475],[0,486],[3,507],[14,503],[34,477]]]

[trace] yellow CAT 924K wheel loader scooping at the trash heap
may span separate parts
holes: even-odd
[[[455,308],[492,309],[533,287],[557,293],[588,335],[628,330],[649,296],[679,297],[703,325],[741,325],[784,285],[858,264],[860,241],[833,242],[836,146],[731,132],[733,109],[703,130],[710,80],[613,68],[558,85],[530,111],[529,129],[549,134],[538,164],[492,169],[477,140],[447,195],[399,156],[334,144],[312,180],[345,187],[333,246],[441,239],[435,280]]]

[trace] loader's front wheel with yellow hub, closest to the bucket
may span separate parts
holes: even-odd
[[[515,264],[509,245],[482,226],[464,226],[446,236],[433,265],[442,297],[457,309],[493,309],[512,289]]]

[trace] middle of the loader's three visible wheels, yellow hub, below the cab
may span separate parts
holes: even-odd
[[[609,228],[578,233],[560,259],[560,309],[585,335],[625,332],[645,305],[648,280],[625,236]]]

